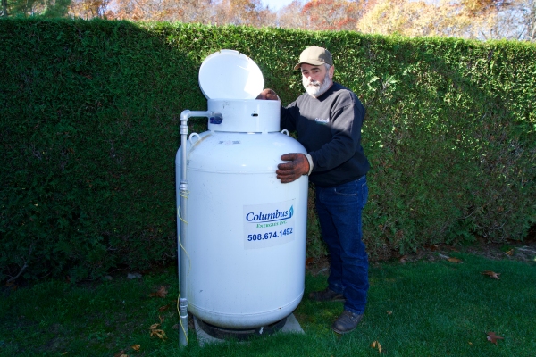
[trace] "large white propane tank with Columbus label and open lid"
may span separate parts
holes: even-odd
[[[186,225],[188,311],[220,328],[264,327],[289,316],[304,294],[308,179],[282,184],[275,170],[282,154],[306,149],[279,131],[278,101],[255,100],[264,79],[245,54],[208,56],[199,85],[222,120],[211,118],[208,131],[182,143],[188,211],[178,225]]]

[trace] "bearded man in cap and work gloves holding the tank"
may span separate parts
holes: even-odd
[[[284,154],[276,170],[282,183],[309,175],[316,190],[322,237],[331,254],[328,287],[309,295],[315,301],[344,301],[332,325],[335,332],[354,330],[363,317],[368,258],[362,240],[361,212],[367,200],[365,174],[370,165],[361,146],[364,106],[348,88],[333,82],[327,49],[307,47],[294,67],[302,73],[306,93],[281,108],[281,128],[297,130],[307,154]],[[279,100],[272,89],[257,99]]]

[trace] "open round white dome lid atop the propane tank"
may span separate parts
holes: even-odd
[[[246,54],[221,50],[201,64],[199,87],[206,99],[255,99],[264,89],[264,78]]]

